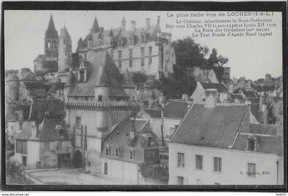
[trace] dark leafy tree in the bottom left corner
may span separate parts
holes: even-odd
[[[6,161],[6,184],[25,185],[33,184],[25,176],[25,169],[19,164],[17,160]]]

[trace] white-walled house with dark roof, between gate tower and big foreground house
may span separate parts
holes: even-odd
[[[187,113],[189,103],[187,101],[170,101],[163,110],[143,109],[142,119],[149,119],[152,131],[158,138],[169,141]],[[163,133],[162,133],[163,132]]]

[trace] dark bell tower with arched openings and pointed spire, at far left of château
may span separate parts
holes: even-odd
[[[56,31],[53,17],[51,15],[48,28],[45,32],[45,56],[57,58],[58,56],[58,32]]]

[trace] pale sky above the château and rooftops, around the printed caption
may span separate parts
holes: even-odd
[[[64,25],[67,27],[72,38],[73,52],[77,48],[79,38],[87,36],[95,16],[99,26],[104,29],[120,27],[123,16],[126,29],[130,29],[130,22],[133,20],[136,21],[136,27],[144,26],[145,18],[150,18],[151,25],[155,25],[157,16],[160,16],[161,30],[171,33],[172,40],[186,38],[192,34],[189,28],[166,28],[165,23],[175,23],[175,19],[167,17],[167,12],[162,11],[5,10],[5,69],[28,67],[33,71],[33,60],[39,54],[44,54],[45,31],[51,14],[58,34]],[[213,48],[217,49],[219,55],[229,59],[225,66],[230,66],[231,78],[244,76],[247,79],[259,79],[264,78],[266,73],[270,73],[272,77],[279,77],[282,75],[283,66],[281,18],[280,12],[274,12],[274,23],[278,27],[274,29],[272,37],[194,39],[210,51]]]

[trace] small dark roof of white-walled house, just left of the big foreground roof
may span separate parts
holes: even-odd
[[[163,117],[182,119],[187,113],[188,103],[184,101],[171,101],[163,109]]]

